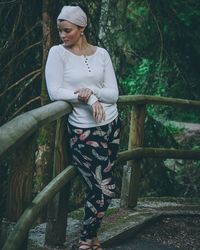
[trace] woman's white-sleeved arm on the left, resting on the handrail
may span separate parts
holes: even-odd
[[[45,67],[45,78],[49,97],[52,101],[64,100],[78,102],[78,94],[64,88],[64,61],[59,54],[58,47],[50,49]]]

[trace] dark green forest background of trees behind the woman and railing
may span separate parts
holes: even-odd
[[[120,95],[145,94],[200,99],[200,2],[196,0],[79,1],[89,10],[87,36],[105,47],[115,67]],[[60,43],[56,18],[63,0],[2,0],[0,2],[0,124],[50,102],[44,79],[49,48]],[[120,107],[121,149],[126,148],[130,108]],[[182,145],[181,129],[167,120],[199,123],[200,111],[148,107],[145,146],[199,148],[199,141]],[[38,134],[33,194],[52,176],[55,124]],[[17,159],[14,159],[17,161]],[[5,210],[9,166],[0,166],[0,211]],[[120,195],[122,166],[116,170]],[[200,195],[200,162],[145,160],[140,196]],[[81,203],[76,180],[72,207]],[[76,197],[73,194],[76,193]],[[77,197],[79,193],[79,197]],[[1,213],[3,214],[3,213]]]

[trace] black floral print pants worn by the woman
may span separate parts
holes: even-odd
[[[97,237],[102,218],[115,193],[112,168],[119,149],[120,120],[77,128],[68,124],[73,163],[88,186],[81,240]]]

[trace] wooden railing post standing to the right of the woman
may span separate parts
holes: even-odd
[[[131,111],[129,150],[141,147],[144,142],[144,122],[146,105],[134,105]],[[139,181],[141,175],[141,159],[127,162],[123,170],[121,207],[135,207],[139,193]]]

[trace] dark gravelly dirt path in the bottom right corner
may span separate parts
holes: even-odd
[[[200,250],[200,216],[166,217],[105,250]]]

